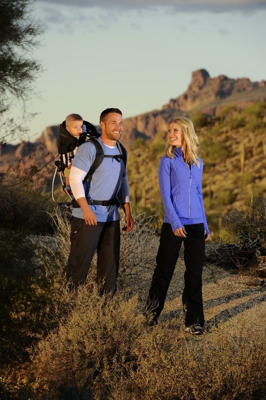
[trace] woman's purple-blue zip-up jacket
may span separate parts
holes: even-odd
[[[172,231],[183,226],[179,218],[189,218],[190,223],[203,222],[209,233],[201,186],[203,162],[198,160],[199,167],[192,163],[190,170],[180,147],[176,147],[173,158],[164,155],[160,160],[158,179],[165,209],[164,222],[171,224]]]

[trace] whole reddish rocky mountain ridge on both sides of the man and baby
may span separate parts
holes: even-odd
[[[121,141],[128,147],[138,137],[152,138],[156,132],[165,130],[168,121],[174,116],[189,116],[195,111],[215,115],[225,104],[233,102],[244,107],[255,101],[266,101],[265,80],[251,82],[248,78],[232,79],[225,75],[211,78],[205,69],[198,69],[192,72],[187,90],[170,99],[161,109],[126,118]],[[1,148],[0,172],[12,165],[15,159],[29,157],[33,153],[36,158],[42,158],[42,162],[56,155],[58,133],[59,125],[48,126],[34,143],[7,144]],[[43,155],[44,150],[46,156]]]

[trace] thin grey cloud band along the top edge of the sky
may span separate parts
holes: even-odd
[[[173,6],[177,11],[255,10],[266,8],[266,0],[37,0],[50,3],[81,7],[104,7],[120,9],[146,8],[149,6]]]

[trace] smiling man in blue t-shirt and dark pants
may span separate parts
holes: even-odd
[[[125,157],[116,142],[123,130],[121,111],[118,108],[102,111],[100,127],[101,136],[94,139],[95,144],[88,141],[78,147],[70,170],[69,183],[77,207],[72,210],[66,276],[73,288],[84,283],[97,250],[96,278],[100,293],[114,293],[120,251],[120,216],[116,197],[125,213],[126,226],[123,229],[129,232],[133,227]],[[99,150],[102,157],[99,157]],[[88,172],[91,172],[91,165],[95,165],[95,157],[97,160],[101,158],[101,162],[91,176]]]

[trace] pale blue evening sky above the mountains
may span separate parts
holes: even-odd
[[[31,141],[72,112],[98,124],[107,107],[124,118],[159,109],[199,68],[266,79],[263,0],[36,0],[30,17],[43,26]],[[21,104],[10,113],[19,120]]]

